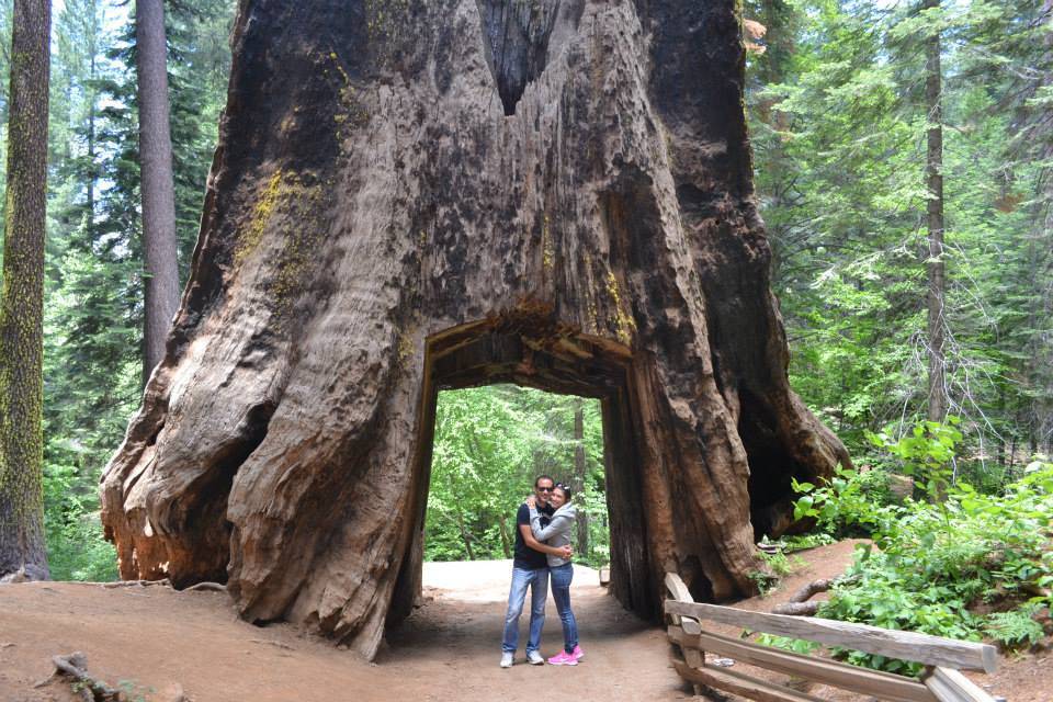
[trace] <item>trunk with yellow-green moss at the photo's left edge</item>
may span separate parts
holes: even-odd
[[[15,0],[0,293],[0,579],[48,577],[44,541],[44,222],[49,0]]]

